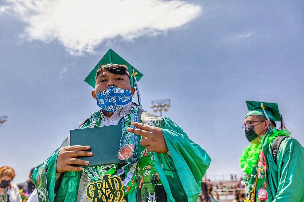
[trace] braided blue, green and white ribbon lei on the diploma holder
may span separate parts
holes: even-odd
[[[133,144],[134,145],[134,153],[132,158],[126,159],[126,162],[131,164],[134,163],[130,171],[127,173],[126,178],[123,180],[123,190],[124,194],[132,192],[135,187],[137,186],[137,162],[140,160],[141,157],[141,149],[139,146],[139,136],[127,131],[127,128],[135,128],[131,125],[131,122],[135,121],[138,122],[138,106],[132,106],[130,113],[125,115],[123,119],[120,121],[119,124],[122,124],[122,137],[120,139],[120,148],[122,148],[126,144]],[[101,114],[100,112],[95,112],[91,115],[90,121],[88,124],[85,124],[83,128],[92,128],[92,127],[99,127],[101,122]],[[106,168],[110,168],[109,170],[105,170]],[[99,181],[105,174],[113,175],[116,172],[117,164],[111,165],[102,165],[102,166],[93,166],[93,167],[86,167],[84,168],[84,172],[88,175],[88,181]],[[127,187],[130,187],[130,189]]]

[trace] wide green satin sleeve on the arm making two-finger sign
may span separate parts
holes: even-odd
[[[170,155],[154,153],[155,166],[168,201],[196,201],[201,180],[211,162],[209,155],[173,121],[163,118],[162,129]]]

